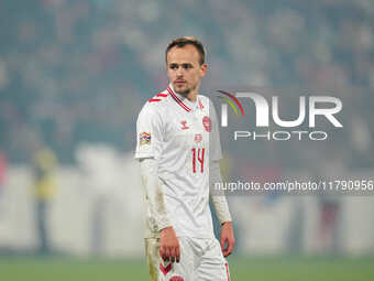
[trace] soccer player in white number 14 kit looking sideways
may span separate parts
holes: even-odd
[[[224,257],[235,244],[231,215],[224,195],[209,188],[222,181],[217,117],[198,94],[207,73],[205,48],[195,37],[179,37],[165,56],[169,85],[144,105],[136,122],[151,280],[230,280]],[[220,242],[209,197],[221,223]]]

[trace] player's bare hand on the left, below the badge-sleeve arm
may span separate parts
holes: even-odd
[[[179,262],[179,241],[172,226],[161,230],[160,244],[160,257],[164,261]]]

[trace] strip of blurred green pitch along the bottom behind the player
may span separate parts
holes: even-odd
[[[374,258],[230,258],[232,281],[371,281]],[[0,280],[148,280],[143,260],[0,257]]]

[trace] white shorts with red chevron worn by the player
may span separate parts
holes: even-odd
[[[216,238],[178,237],[179,262],[164,262],[160,257],[160,238],[145,238],[151,281],[230,281],[229,264]]]

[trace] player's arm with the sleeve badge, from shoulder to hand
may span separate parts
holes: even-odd
[[[179,261],[179,242],[165,207],[163,188],[158,181],[158,161],[163,143],[163,123],[160,115],[143,108],[136,122],[138,144],[135,158],[140,160],[142,183],[152,220],[161,233],[160,256],[164,260]]]

